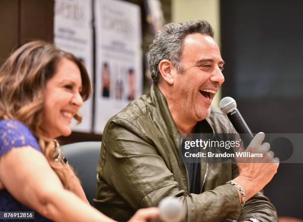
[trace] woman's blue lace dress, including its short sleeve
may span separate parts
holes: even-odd
[[[36,138],[30,131],[30,129],[23,123],[17,120],[1,120],[0,121],[0,156],[8,152],[11,148],[31,146],[32,148],[42,152],[39,147]],[[18,163],[16,163],[18,164]],[[0,170],[5,170],[0,169]],[[13,176],[13,175],[11,175]],[[29,197],[30,198],[30,197]],[[0,211],[4,212],[25,212],[31,211],[30,208],[24,206],[18,202],[12,195],[10,195],[6,189],[0,190]],[[22,222],[50,222],[38,212],[34,213],[34,220],[16,220]],[[0,220],[1,222],[13,222],[13,220]]]

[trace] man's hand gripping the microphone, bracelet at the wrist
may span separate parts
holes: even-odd
[[[250,161],[246,161],[245,158],[236,159],[239,176],[234,181],[244,189],[246,200],[263,189],[277,172],[279,166],[279,159],[274,158],[274,153],[269,151],[269,143],[262,144],[264,138],[264,133],[256,134],[246,150],[251,154],[263,154],[263,157],[255,159],[257,163],[252,163],[251,158]],[[239,196],[241,201],[240,192]]]

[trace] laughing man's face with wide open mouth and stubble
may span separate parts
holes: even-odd
[[[189,121],[201,121],[210,114],[210,105],[224,82],[224,61],[213,38],[200,33],[183,42],[181,67],[174,74],[173,94],[177,110]]]

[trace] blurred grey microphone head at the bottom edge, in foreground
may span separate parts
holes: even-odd
[[[184,217],[182,203],[176,197],[165,197],[158,207],[163,222],[180,222]]]

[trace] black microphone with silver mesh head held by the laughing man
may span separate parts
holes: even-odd
[[[220,101],[219,107],[221,111],[227,115],[230,122],[235,127],[236,131],[242,134],[241,138],[246,148],[253,140],[253,133],[248,127],[248,125],[246,124],[241,113],[237,109],[236,101],[231,97],[224,97]]]

